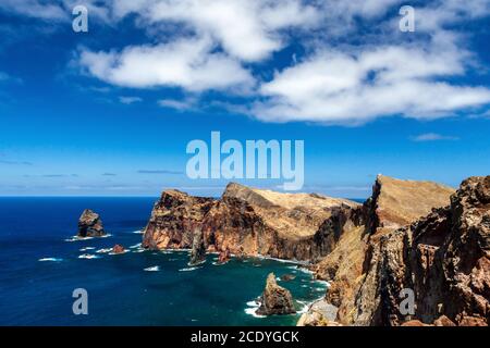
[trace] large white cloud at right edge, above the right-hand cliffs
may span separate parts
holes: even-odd
[[[319,52],[262,84],[267,99],[252,113],[270,122],[363,124],[397,114],[437,119],[490,103],[490,89],[444,79],[465,73],[468,54],[439,44]]]

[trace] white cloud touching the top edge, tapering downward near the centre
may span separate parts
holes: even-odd
[[[115,15],[136,13],[149,24],[183,23],[217,40],[226,53],[258,61],[283,47],[278,30],[319,23],[320,12],[299,0],[115,1]]]

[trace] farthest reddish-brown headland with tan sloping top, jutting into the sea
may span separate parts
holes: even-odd
[[[326,220],[356,209],[359,204],[348,200],[238,184],[230,184],[220,199],[169,190],[155,204],[143,246],[191,248],[194,231],[200,228],[208,251],[318,260],[339,239],[324,227]]]

